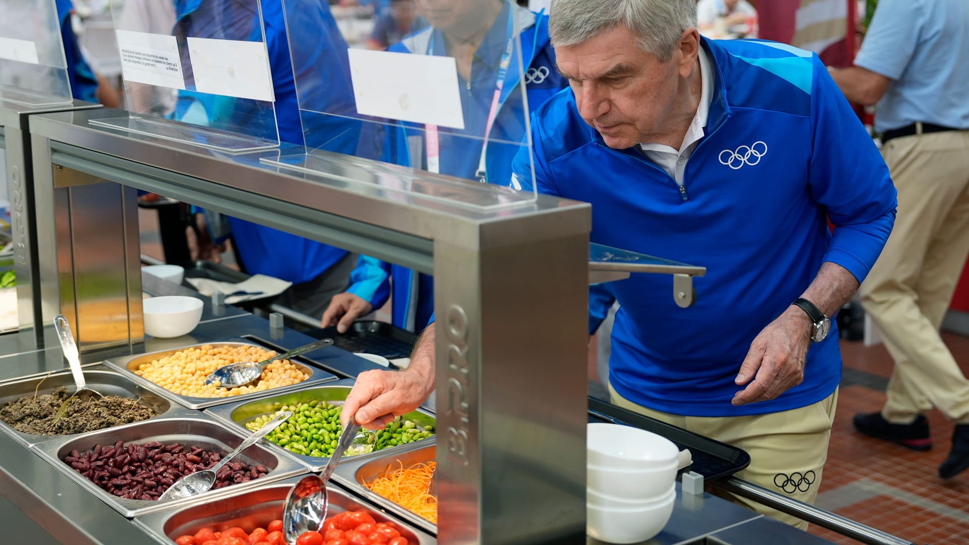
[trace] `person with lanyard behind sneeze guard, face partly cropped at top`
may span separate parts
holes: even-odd
[[[451,176],[507,183],[512,159],[520,148],[507,143],[522,141],[526,115],[519,91],[522,75],[515,68],[517,48],[508,53],[513,34],[520,34],[529,108],[537,108],[567,85],[555,71],[555,53],[548,41],[548,17],[508,0],[418,0],[418,9],[431,26],[390,50],[455,58],[465,128],[441,128],[440,153],[432,153],[428,160],[426,146],[415,149],[414,138],[408,138],[417,136],[423,140],[423,127],[403,123],[386,139],[374,138],[383,146],[381,158]],[[502,70],[503,60],[510,63],[510,70]],[[498,111],[488,126],[496,82],[502,72],[505,75]],[[481,137],[487,139],[486,147]],[[422,156],[421,164],[412,165],[415,151]],[[397,327],[420,331],[434,310],[433,278],[427,274],[360,256],[351,281],[347,293],[334,297],[323,314],[323,327],[336,326],[341,333],[347,331],[354,320],[387,303],[391,291],[391,321]]]

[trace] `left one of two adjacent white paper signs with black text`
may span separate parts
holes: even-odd
[[[126,81],[184,89],[181,58],[174,36],[115,30]]]

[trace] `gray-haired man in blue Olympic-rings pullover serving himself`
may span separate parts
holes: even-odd
[[[896,193],[817,55],[696,25],[694,0],[556,0],[571,88],[532,115],[534,183],[592,204],[593,242],[706,268],[685,309],[669,277],[604,285],[621,305],[611,402],[742,448],[740,478],[812,502],[841,378],[830,318],[881,253]],[[530,190],[526,154],[513,170]],[[361,374],[343,410],[370,424],[420,404],[434,337],[402,376]]]

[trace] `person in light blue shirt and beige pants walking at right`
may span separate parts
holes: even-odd
[[[939,465],[969,468],[969,380],[939,335],[969,256],[969,2],[882,0],[852,68],[833,71],[875,130],[898,188],[898,220],[861,285],[861,305],[895,366],[882,410],[855,428],[913,450],[932,446],[924,413],[955,423]]]

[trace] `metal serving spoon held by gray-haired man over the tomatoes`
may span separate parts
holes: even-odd
[[[303,477],[286,497],[286,505],[283,507],[283,535],[287,543],[296,543],[297,537],[304,531],[319,531],[323,528],[329,507],[327,482],[336,465],[343,458],[343,453],[358,437],[359,429],[360,425],[351,418],[350,424],[340,434],[336,450],[333,451],[333,456],[329,458],[323,472],[319,475]]]

